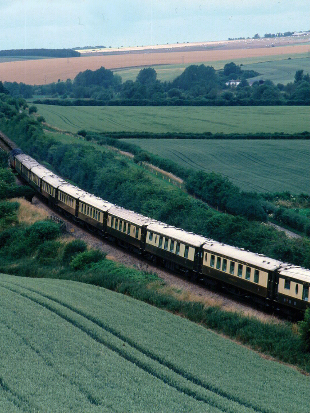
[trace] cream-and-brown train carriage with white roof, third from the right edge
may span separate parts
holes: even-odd
[[[162,222],[148,225],[145,251],[160,257],[167,267],[180,271],[199,271],[201,246],[208,239]]]

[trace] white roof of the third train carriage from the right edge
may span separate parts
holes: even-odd
[[[160,233],[160,235],[164,235],[165,237],[184,242],[185,244],[193,245],[194,247],[200,247],[200,245],[208,241],[208,238],[205,238],[202,235],[196,235],[158,221],[150,223],[147,229],[152,232]]]

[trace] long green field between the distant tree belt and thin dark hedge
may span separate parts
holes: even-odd
[[[308,106],[148,107],[54,106],[37,104],[38,114],[52,126],[76,133],[187,132],[295,133],[309,131]]]

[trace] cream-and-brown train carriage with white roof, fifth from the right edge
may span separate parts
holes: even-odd
[[[78,218],[91,228],[106,231],[107,211],[114,205],[88,192],[79,197]]]

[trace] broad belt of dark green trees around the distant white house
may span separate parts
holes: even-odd
[[[173,81],[160,81],[153,68],[139,71],[135,81],[122,82],[118,74],[100,67],[86,70],[49,85],[31,86],[4,82],[13,97],[45,96],[35,103],[62,105],[130,105],[130,106],[254,106],[310,104],[309,74],[295,73],[294,81],[275,85],[271,80],[248,83],[258,76],[234,62],[216,71],[212,66],[191,65]]]

